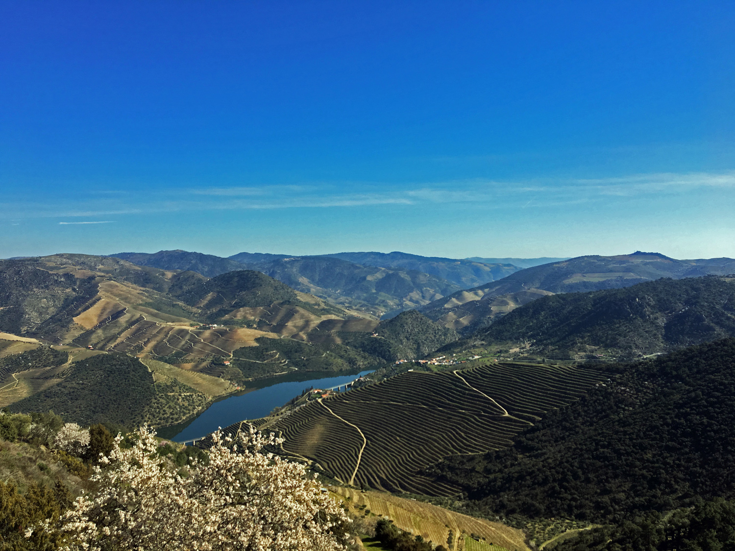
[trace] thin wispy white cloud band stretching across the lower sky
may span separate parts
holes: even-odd
[[[386,184],[375,182],[305,183],[241,187],[170,189],[151,186],[145,192],[126,191],[104,198],[88,197],[73,204],[58,201],[6,201],[0,218],[95,218],[153,215],[163,212],[247,211],[252,209],[348,209],[369,206],[463,204],[483,209],[542,209],[661,195],[685,195],[695,190],[735,190],[735,172],[652,173],[600,179],[527,179],[499,181],[466,179],[444,182]],[[103,224],[112,220],[62,221],[62,225]]]

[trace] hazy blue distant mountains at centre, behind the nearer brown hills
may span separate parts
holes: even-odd
[[[495,281],[520,270],[510,264],[399,252],[325,256],[238,253],[225,259],[179,250],[113,256],[163,270],[193,270],[207,277],[243,268],[258,270],[298,291],[374,317],[392,317],[464,287]]]

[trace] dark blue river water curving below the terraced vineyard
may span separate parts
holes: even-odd
[[[350,383],[361,375],[367,375],[368,373],[370,371],[362,371],[353,375],[340,375],[339,377],[309,379],[307,381],[284,381],[283,378],[257,381],[262,388],[215,402],[193,421],[162,428],[158,431],[158,436],[170,438],[176,442],[201,438],[212,431],[216,431],[219,427],[224,428],[244,419],[265,417],[273,411],[273,408],[283,406],[284,403],[287,403],[294,396],[300,395],[309,386],[316,389],[325,389],[330,386]],[[310,375],[313,376],[313,374]]]

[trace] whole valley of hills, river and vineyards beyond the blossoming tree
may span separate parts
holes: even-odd
[[[283,438],[273,451],[308,465],[361,522],[389,516],[457,550],[623,541],[614,530],[632,514],[679,511],[689,494],[735,498],[715,390],[730,395],[730,259],[635,253],[520,270],[404,253],[126,256],[136,263],[0,261],[1,407],[148,423],[198,450],[219,425],[252,426]],[[470,288],[448,279],[504,273]],[[673,411],[691,414],[669,431]],[[724,443],[692,436],[702,423]],[[668,450],[669,479],[653,449],[674,441],[713,455]],[[645,467],[635,450],[653,454]],[[725,482],[708,486],[685,462]],[[639,487],[659,479],[674,489]],[[639,501],[616,497],[631,489]]]

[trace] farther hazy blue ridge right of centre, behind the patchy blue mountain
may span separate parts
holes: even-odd
[[[506,277],[520,270],[509,263],[476,262],[473,259],[447,259],[401,253],[332,253],[323,256],[348,260],[363,266],[417,270],[451,281],[462,289],[476,287]]]

